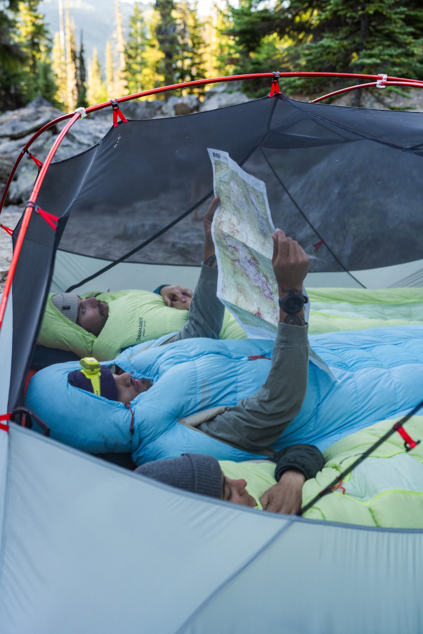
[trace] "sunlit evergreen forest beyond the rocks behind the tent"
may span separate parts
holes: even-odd
[[[1,2],[0,111],[43,96],[69,112],[157,86],[273,70],[423,79],[421,0],[221,0],[206,18],[198,16],[197,0],[155,0],[134,3],[126,25],[119,1],[115,11],[101,67],[96,49],[86,56],[83,34],[75,41],[67,5],[60,3],[60,30],[51,34],[39,0]],[[299,94],[344,85],[283,82],[285,91]],[[242,89],[263,96],[269,81],[244,82]],[[191,92],[201,96],[204,89]]]

